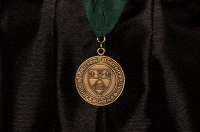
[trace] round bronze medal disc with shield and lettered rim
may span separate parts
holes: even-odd
[[[79,95],[86,102],[104,106],[121,95],[125,76],[121,66],[112,58],[94,56],[80,65],[75,82]]]

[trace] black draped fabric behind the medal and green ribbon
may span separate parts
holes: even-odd
[[[74,82],[97,46],[81,0],[1,0],[0,131],[200,131],[199,0],[128,0],[106,41],[125,89],[106,107]]]

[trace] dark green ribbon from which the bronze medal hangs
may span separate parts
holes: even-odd
[[[127,0],[82,0],[86,16],[97,37],[110,33]]]

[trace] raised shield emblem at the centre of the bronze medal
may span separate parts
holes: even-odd
[[[111,74],[110,69],[88,70],[88,84],[95,95],[102,96],[109,89],[112,82]]]

